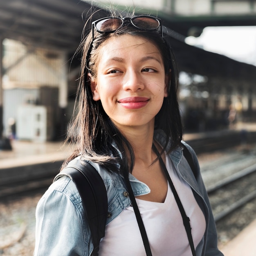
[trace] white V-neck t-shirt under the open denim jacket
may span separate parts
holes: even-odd
[[[191,188],[175,174],[171,160],[166,157],[166,168],[190,219],[193,242],[196,246],[204,236],[206,223]],[[164,203],[136,198],[150,249],[153,256],[190,256],[191,248],[183,225],[180,210],[168,184]],[[129,206],[106,226],[105,237],[100,243],[99,256],[145,256],[139,226]]]

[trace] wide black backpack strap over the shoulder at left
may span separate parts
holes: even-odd
[[[73,159],[56,177],[68,176],[76,185],[81,196],[85,215],[88,219],[93,241],[92,255],[98,255],[99,243],[105,236],[105,227],[108,216],[108,198],[105,184],[88,162]]]

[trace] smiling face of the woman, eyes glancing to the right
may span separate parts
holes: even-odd
[[[111,37],[100,47],[97,77],[92,78],[94,101],[119,129],[154,126],[167,97],[168,76],[157,47],[132,35]]]

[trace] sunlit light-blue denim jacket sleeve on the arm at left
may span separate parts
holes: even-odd
[[[61,177],[38,202],[34,256],[89,256],[90,239],[75,185]]]

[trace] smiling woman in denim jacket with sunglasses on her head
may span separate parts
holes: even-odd
[[[70,131],[76,149],[67,162],[90,161],[106,186],[110,214],[99,255],[146,255],[136,205],[152,255],[187,256],[193,247],[197,256],[222,255],[195,153],[190,148],[195,174],[182,154],[176,65],[162,29],[151,16],[102,18],[82,42]],[[192,243],[177,200],[190,219]],[[91,255],[90,229],[69,177],[49,187],[36,220],[36,256]]]

